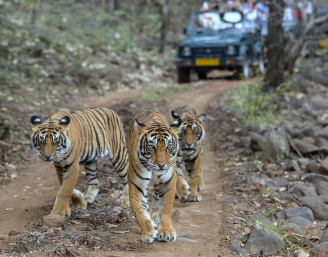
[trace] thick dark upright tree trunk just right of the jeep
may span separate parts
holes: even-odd
[[[278,87],[284,82],[285,52],[284,47],[286,37],[282,27],[282,18],[284,13],[284,0],[269,1],[269,19],[268,19],[268,38],[267,38],[267,59],[268,64],[264,76],[265,87]]]

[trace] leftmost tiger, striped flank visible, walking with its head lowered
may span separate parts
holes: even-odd
[[[118,115],[108,108],[88,108],[58,112],[45,122],[31,118],[32,148],[41,160],[55,166],[60,190],[51,213],[70,217],[70,199],[75,207],[86,209],[99,192],[97,161],[109,156],[123,182],[121,200],[128,203],[128,153]],[[75,189],[79,166],[84,165],[88,180],[85,196]]]

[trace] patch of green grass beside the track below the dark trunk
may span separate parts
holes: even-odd
[[[276,105],[289,87],[286,83],[276,88],[274,93],[263,92],[261,83],[243,84],[228,92],[228,110],[241,114],[243,125],[258,125],[260,128],[271,128],[280,120]]]

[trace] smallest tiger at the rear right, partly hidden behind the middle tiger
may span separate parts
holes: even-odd
[[[196,115],[194,108],[180,106],[171,111],[175,120],[182,120],[178,132],[180,148],[177,153],[177,194],[180,201],[201,201],[202,196],[197,191],[203,191],[204,180],[201,168],[201,142],[205,137],[203,123],[206,114]],[[188,172],[188,183],[183,179],[182,163]],[[187,189],[190,187],[190,195]],[[181,195],[182,192],[182,195]]]

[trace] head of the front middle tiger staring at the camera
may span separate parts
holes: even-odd
[[[158,172],[169,169],[179,147],[177,132],[181,120],[174,121],[169,126],[153,124],[148,127],[137,119],[135,121],[135,126],[140,131],[138,157],[142,165],[148,170]]]

